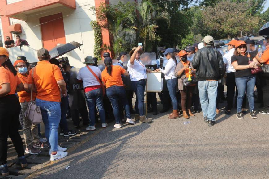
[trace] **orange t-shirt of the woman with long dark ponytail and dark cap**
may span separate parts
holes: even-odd
[[[122,81],[122,74],[125,73],[125,69],[123,69],[119,65],[111,65],[112,70],[111,70],[111,75],[107,73],[107,68],[102,71],[102,81],[105,83],[105,87],[108,88],[110,86],[123,86],[123,81]]]

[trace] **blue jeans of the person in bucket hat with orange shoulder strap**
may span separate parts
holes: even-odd
[[[89,108],[90,126],[95,125],[95,105],[99,110],[102,124],[105,123],[105,110],[103,105],[103,90],[98,88],[85,93]]]

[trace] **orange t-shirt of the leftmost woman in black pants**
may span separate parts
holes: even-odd
[[[7,95],[15,94],[15,90],[17,86],[21,83],[18,75],[14,76],[14,74],[6,67],[0,66],[0,89],[2,88],[1,85],[4,83],[10,84],[10,92]]]

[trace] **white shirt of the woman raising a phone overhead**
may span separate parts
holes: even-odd
[[[142,64],[141,60],[135,59],[135,63],[133,65],[131,64],[130,60],[128,61],[127,67],[131,81],[147,79],[146,67]]]

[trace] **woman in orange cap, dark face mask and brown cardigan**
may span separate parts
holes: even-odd
[[[183,85],[183,79],[188,78],[189,75],[195,73],[195,70],[192,68],[192,64],[190,61],[187,60],[187,53],[184,50],[181,50],[179,52],[179,58],[180,62],[178,62],[176,69],[175,69],[175,75],[178,78],[178,89],[180,90],[181,94],[181,107],[183,111],[184,118],[188,119],[189,116],[195,116],[191,113],[190,107],[191,107],[191,98],[192,93],[195,89],[195,84],[191,86],[184,86]],[[189,74],[189,67],[191,67],[192,71]]]

